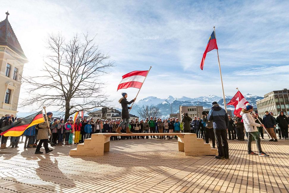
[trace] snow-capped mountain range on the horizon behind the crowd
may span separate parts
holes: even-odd
[[[254,107],[257,107],[256,101],[263,99],[262,96],[256,96],[252,94],[246,94],[244,97]],[[228,103],[232,98],[233,96],[225,95],[226,103]],[[178,113],[180,105],[185,105],[185,106],[197,105],[197,106],[203,106],[205,109],[205,108],[211,108],[213,101],[217,101],[219,105],[224,108],[223,97],[216,96],[216,95],[200,96],[197,98],[189,98],[186,96],[174,98],[173,96],[168,96],[165,99],[160,99],[155,96],[148,96],[144,99],[139,100],[139,102],[135,102],[130,113],[139,116],[137,113],[137,110],[139,108],[142,108],[143,105],[149,105],[149,106],[153,105],[153,106],[158,107],[161,110],[161,114],[165,117],[171,113],[171,110],[170,110],[171,106],[172,106],[173,113]],[[232,105],[227,105],[227,109],[234,110],[235,108]]]

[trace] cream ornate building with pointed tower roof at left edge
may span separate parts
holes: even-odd
[[[0,116],[16,115],[23,66],[28,62],[8,15],[0,22]]]

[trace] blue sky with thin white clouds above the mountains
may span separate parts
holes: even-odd
[[[96,35],[95,43],[115,65],[103,77],[104,92],[119,108],[121,92],[133,99],[138,91],[117,91],[121,76],[150,66],[137,101],[222,96],[216,50],[200,69],[214,26],[226,95],[233,96],[236,87],[258,96],[288,88],[288,7],[289,1],[3,1],[0,20],[8,10],[29,60],[23,76],[44,67],[48,34],[61,32],[66,39],[76,33]],[[20,98],[25,94],[21,88]]]

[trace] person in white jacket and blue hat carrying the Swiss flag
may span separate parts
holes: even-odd
[[[240,113],[244,122],[245,130],[246,132],[248,132],[248,143],[247,143],[248,154],[258,155],[257,153],[254,153],[252,151],[252,141],[253,141],[253,138],[255,138],[259,156],[269,157],[269,155],[267,155],[266,153],[262,151],[261,139],[260,139],[258,129],[257,129],[257,127],[264,127],[264,125],[255,122],[256,119],[250,114],[252,111],[253,111],[253,106],[248,104],[246,106],[246,109],[242,109],[242,112]]]

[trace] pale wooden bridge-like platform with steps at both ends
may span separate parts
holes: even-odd
[[[178,136],[179,151],[185,155],[217,155],[218,150],[197,138],[195,133],[94,133],[77,148],[70,150],[69,155],[101,155],[109,151],[111,136]]]

